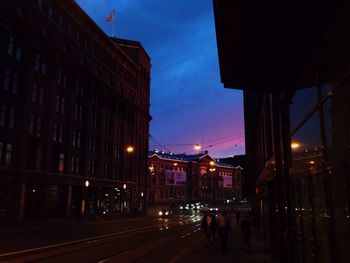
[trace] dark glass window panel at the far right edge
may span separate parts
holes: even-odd
[[[334,249],[339,262],[350,257],[350,82],[323,106]]]

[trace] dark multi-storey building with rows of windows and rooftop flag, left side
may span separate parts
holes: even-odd
[[[142,207],[149,95],[142,45],[75,1],[0,1],[0,219]]]

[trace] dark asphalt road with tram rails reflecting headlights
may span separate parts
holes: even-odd
[[[1,233],[4,262],[176,262],[203,242],[201,215],[39,226]]]

